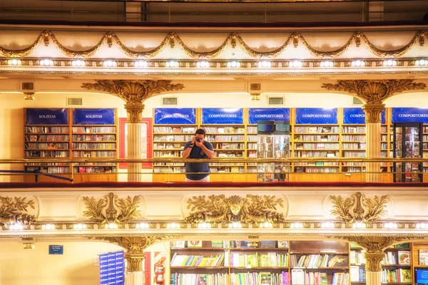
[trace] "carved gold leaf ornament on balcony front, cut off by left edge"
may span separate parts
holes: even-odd
[[[28,214],[28,207],[35,209],[33,200],[26,197],[1,197],[0,196],[0,226],[7,224],[32,224],[36,217]]]

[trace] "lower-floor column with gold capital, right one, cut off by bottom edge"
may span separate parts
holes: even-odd
[[[409,240],[410,237],[345,237],[350,242],[355,242],[365,249],[366,284],[381,285],[382,265],[384,249],[392,244]]]

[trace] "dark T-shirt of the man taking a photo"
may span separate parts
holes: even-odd
[[[186,142],[184,145],[184,150],[186,150],[190,145],[190,142]],[[214,150],[213,145],[211,142],[207,142],[204,140],[203,145],[205,145],[208,150]],[[208,156],[205,155],[205,152],[203,152],[202,148],[193,145],[192,150],[190,150],[190,155],[188,158],[205,158],[207,159]],[[206,172],[205,173],[199,173],[199,174],[193,174],[190,172]],[[185,164],[185,177],[187,177],[190,180],[201,180],[205,177],[210,175],[210,164],[208,162],[203,163],[186,163]]]

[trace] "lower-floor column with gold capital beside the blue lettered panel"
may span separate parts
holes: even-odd
[[[178,238],[175,236],[148,236],[148,237],[101,237],[113,244],[118,244],[126,250],[125,258],[128,263],[126,267],[126,284],[127,285],[144,285],[145,282],[145,259],[144,250],[156,242],[164,239]],[[150,284],[148,284],[150,285]]]

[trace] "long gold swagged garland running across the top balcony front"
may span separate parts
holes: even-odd
[[[13,58],[29,56],[29,54],[31,54],[37,48],[37,46],[39,46],[39,43],[41,43],[41,41],[44,41],[46,46],[49,45],[49,38],[51,38],[56,48],[58,48],[58,50],[61,51],[63,55],[68,56],[70,58],[90,58],[105,44],[107,44],[108,47],[111,48],[111,46],[113,46],[114,40],[118,48],[126,56],[129,56],[134,59],[148,59],[158,56],[158,54],[164,50],[165,46],[167,46],[168,43],[170,45],[170,48],[174,48],[176,41],[180,48],[185,52],[185,54],[192,58],[213,59],[219,56],[220,53],[222,53],[225,50],[225,47],[229,44],[232,48],[235,48],[236,41],[238,40],[241,48],[243,48],[245,53],[248,53],[248,55],[253,58],[277,58],[291,43],[295,48],[297,48],[299,43],[302,43],[302,46],[305,46],[307,51],[309,51],[312,56],[315,56],[320,59],[327,59],[337,58],[338,56],[341,56],[343,53],[345,53],[345,51],[347,51],[348,48],[350,48],[350,46],[352,46],[353,43],[355,43],[355,46],[360,47],[361,40],[363,40],[369,51],[371,51],[375,56],[379,56],[380,58],[397,58],[407,53],[410,48],[412,48],[417,42],[419,42],[419,46],[424,46],[425,36],[427,36],[426,31],[417,31],[414,34],[412,40],[410,40],[409,43],[407,43],[405,46],[402,46],[402,48],[398,48],[397,50],[393,51],[384,51],[374,46],[367,38],[365,33],[363,33],[362,31],[357,31],[350,37],[350,39],[347,41],[347,43],[345,43],[344,46],[337,48],[335,51],[318,51],[317,49],[312,48],[309,43],[307,43],[305,37],[302,36],[301,33],[295,32],[288,36],[288,38],[285,40],[285,43],[283,43],[282,46],[280,46],[279,48],[276,48],[274,51],[260,52],[253,48],[250,48],[250,46],[245,43],[243,38],[238,33],[230,33],[225,38],[225,41],[217,48],[214,48],[212,51],[198,52],[188,48],[188,46],[183,42],[183,40],[180,38],[180,36],[178,36],[178,34],[168,33],[168,35],[165,36],[161,44],[156,48],[153,48],[151,51],[133,51],[131,50],[131,48],[128,48],[121,42],[116,33],[110,31],[103,35],[103,37],[100,39],[100,41],[98,41],[96,46],[93,46],[92,48],[89,48],[86,51],[72,51],[71,49],[66,48],[61,43],[59,43],[53,32],[43,31],[40,36],[36,38],[36,41],[34,41],[34,43],[32,43],[29,47],[20,50],[10,50],[0,46],[0,53],[3,56]]]

